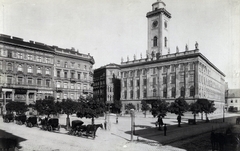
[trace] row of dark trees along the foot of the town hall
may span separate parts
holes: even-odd
[[[196,114],[205,113],[206,119],[209,113],[213,113],[216,108],[213,101],[207,99],[198,99],[196,102],[188,104],[183,98],[177,98],[174,102],[168,103],[164,100],[157,100],[151,103],[151,108],[146,101],[142,101],[141,110],[146,116],[146,112],[150,110],[152,115],[156,117],[160,115],[162,117],[167,115],[167,112],[175,113],[176,115],[184,116],[184,113],[191,111],[196,120]]]

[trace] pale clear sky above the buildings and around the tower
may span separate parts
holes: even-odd
[[[147,18],[157,0],[0,0],[0,33],[90,53],[94,68],[147,50]],[[185,45],[240,88],[240,1],[163,0],[171,13],[170,51]],[[237,80],[237,82],[236,82]]]

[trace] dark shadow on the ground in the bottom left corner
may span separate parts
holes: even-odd
[[[15,147],[20,149],[22,147],[19,143],[22,141],[26,141],[26,139],[0,129],[0,150],[14,150]]]

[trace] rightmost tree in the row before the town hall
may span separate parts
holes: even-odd
[[[209,101],[207,99],[198,99],[197,103],[200,105],[201,113],[205,113],[206,122],[208,122],[208,114],[213,113],[216,108],[214,107],[214,101]]]

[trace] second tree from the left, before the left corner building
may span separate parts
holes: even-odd
[[[57,108],[55,106],[53,97],[48,97],[44,100],[37,100],[35,104],[35,109],[40,115],[47,115],[48,117],[50,114],[57,113]]]

